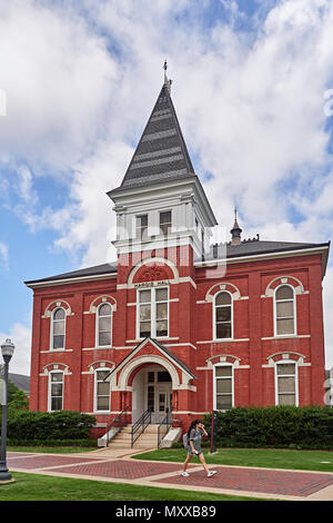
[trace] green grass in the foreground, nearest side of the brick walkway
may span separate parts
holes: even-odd
[[[268,501],[21,472],[11,475],[16,482],[0,486],[0,501]]]

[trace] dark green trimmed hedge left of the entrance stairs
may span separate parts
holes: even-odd
[[[84,440],[89,438],[95,417],[72,411],[34,412],[8,409],[9,440]]]

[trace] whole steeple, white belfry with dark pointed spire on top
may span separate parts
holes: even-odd
[[[115,204],[118,255],[190,246],[199,256],[216,225],[172,103],[167,60],[163,69],[161,91],[123,180],[108,191]]]

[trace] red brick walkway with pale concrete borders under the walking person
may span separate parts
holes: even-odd
[[[218,473],[206,477],[200,464],[190,464],[190,476],[183,477],[182,463],[131,460],[134,454],[142,454],[142,451],[101,448],[80,454],[9,452],[7,464],[10,472],[186,491],[194,487],[202,492],[273,500],[333,501],[333,473],[209,465]]]

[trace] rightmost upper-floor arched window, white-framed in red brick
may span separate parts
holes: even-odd
[[[281,285],[275,290],[275,335],[296,334],[295,295],[290,285]]]

